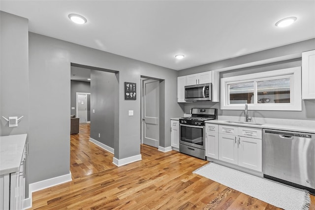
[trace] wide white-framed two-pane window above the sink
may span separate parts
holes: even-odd
[[[221,78],[221,109],[302,110],[301,68]]]

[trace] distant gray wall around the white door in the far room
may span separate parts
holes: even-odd
[[[71,80],[71,84],[70,84],[70,96],[71,96],[71,102],[70,102],[70,106],[71,107],[76,107],[76,93],[91,93],[91,84],[90,82],[83,82],[83,81],[75,81],[75,80]],[[90,95],[88,95],[88,121],[90,121]],[[76,109],[71,109],[70,107],[70,114],[71,115],[76,115]]]

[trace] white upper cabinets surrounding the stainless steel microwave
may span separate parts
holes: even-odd
[[[185,86],[212,83],[212,102],[219,102],[219,71],[205,71],[177,77],[177,102],[185,101]]]

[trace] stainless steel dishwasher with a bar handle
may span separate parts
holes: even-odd
[[[315,192],[315,134],[263,129],[264,177]]]

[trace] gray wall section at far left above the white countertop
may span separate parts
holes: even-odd
[[[29,133],[28,29],[27,19],[0,11],[0,136]],[[2,116],[24,117],[18,127],[9,128]],[[29,169],[26,175],[28,183]]]

